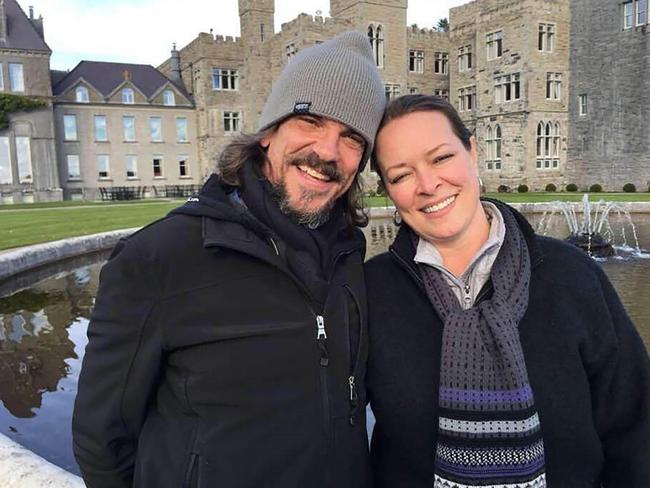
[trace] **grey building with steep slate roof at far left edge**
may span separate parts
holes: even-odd
[[[47,106],[9,116],[0,129],[0,202],[60,200],[50,83],[51,51],[42,19],[25,16],[15,0],[0,2],[0,92]]]

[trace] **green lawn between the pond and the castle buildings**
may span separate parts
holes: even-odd
[[[490,193],[487,196],[519,202],[579,201],[582,193]],[[599,199],[650,202],[650,193],[594,193]],[[56,202],[0,205],[0,250],[54,241],[65,237],[139,227],[163,217],[183,200],[139,200],[128,203]],[[367,197],[369,207],[391,206],[387,197]]]

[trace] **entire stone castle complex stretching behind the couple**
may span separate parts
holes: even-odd
[[[427,93],[457,107],[476,134],[479,169],[488,191],[520,185],[531,191],[563,190],[568,184],[580,190],[599,184],[604,190],[621,191],[626,183],[647,191],[650,129],[644,100],[650,41],[644,2],[473,0],[452,8],[448,31],[438,31],[407,26],[407,0],[330,0],[329,17],[301,14],[276,33],[273,0],[239,0],[241,37],[199,33],[188,45],[174,47],[170,58],[154,70],[160,75],[155,86],[153,75],[140,85],[131,79],[133,73],[148,72],[144,65],[116,65],[111,75],[115,86],[96,93],[93,83],[76,77],[81,63],[65,81],[64,74],[52,72],[48,78],[43,70],[28,76],[36,69],[30,67],[34,63],[49,69],[42,19],[23,15],[30,29],[38,34],[40,28],[41,39],[21,39],[35,44],[28,42],[23,49],[3,47],[0,15],[0,75],[5,77],[0,92],[13,91],[9,71],[18,63],[16,56],[23,56],[23,93],[52,100],[52,107],[14,115],[10,128],[0,129],[0,192],[3,198],[30,191],[36,200],[57,195],[92,198],[106,185],[200,183],[214,171],[233,136],[256,130],[271,86],[292,57],[349,29],[367,33],[388,99]],[[15,17],[15,0],[0,0],[0,12],[5,4]],[[109,67],[95,69],[102,78]],[[90,90],[90,100],[76,99],[84,87]],[[129,87],[136,94],[130,105],[124,103],[123,93]],[[161,98],[163,91],[173,92],[174,106]],[[149,92],[151,96],[145,96]],[[84,131],[93,117],[97,121],[99,110],[111,114],[106,119],[112,124],[109,133],[126,134],[122,125],[125,118],[132,119],[137,138],[125,136],[106,144],[105,139],[97,140],[97,127],[94,135],[91,128]],[[65,124],[72,116],[79,136],[66,140]],[[178,129],[179,119],[185,121],[185,135],[161,138],[174,120]],[[24,139],[30,137],[22,135],[27,127],[40,131],[30,139],[31,181],[20,176],[26,158],[20,151],[25,153]],[[151,137],[141,135],[147,132]],[[9,151],[3,156],[5,143]],[[377,176],[365,171],[368,188],[373,189]]]

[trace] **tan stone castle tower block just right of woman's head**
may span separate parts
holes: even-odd
[[[476,0],[450,10],[451,99],[475,131],[488,191],[567,182],[569,18],[568,0]]]

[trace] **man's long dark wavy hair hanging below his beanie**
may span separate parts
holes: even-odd
[[[241,187],[240,172],[247,161],[262,165],[266,161],[266,151],[262,147],[262,139],[272,134],[276,126],[269,127],[255,134],[240,134],[236,136],[222,151],[217,163],[217,172],[224,183]],[[363,206],[363,189],[361,174],[357,172],[348,191],[341,197],[343,211],[349,225],[365,227],[368,225],[368,213]]]

